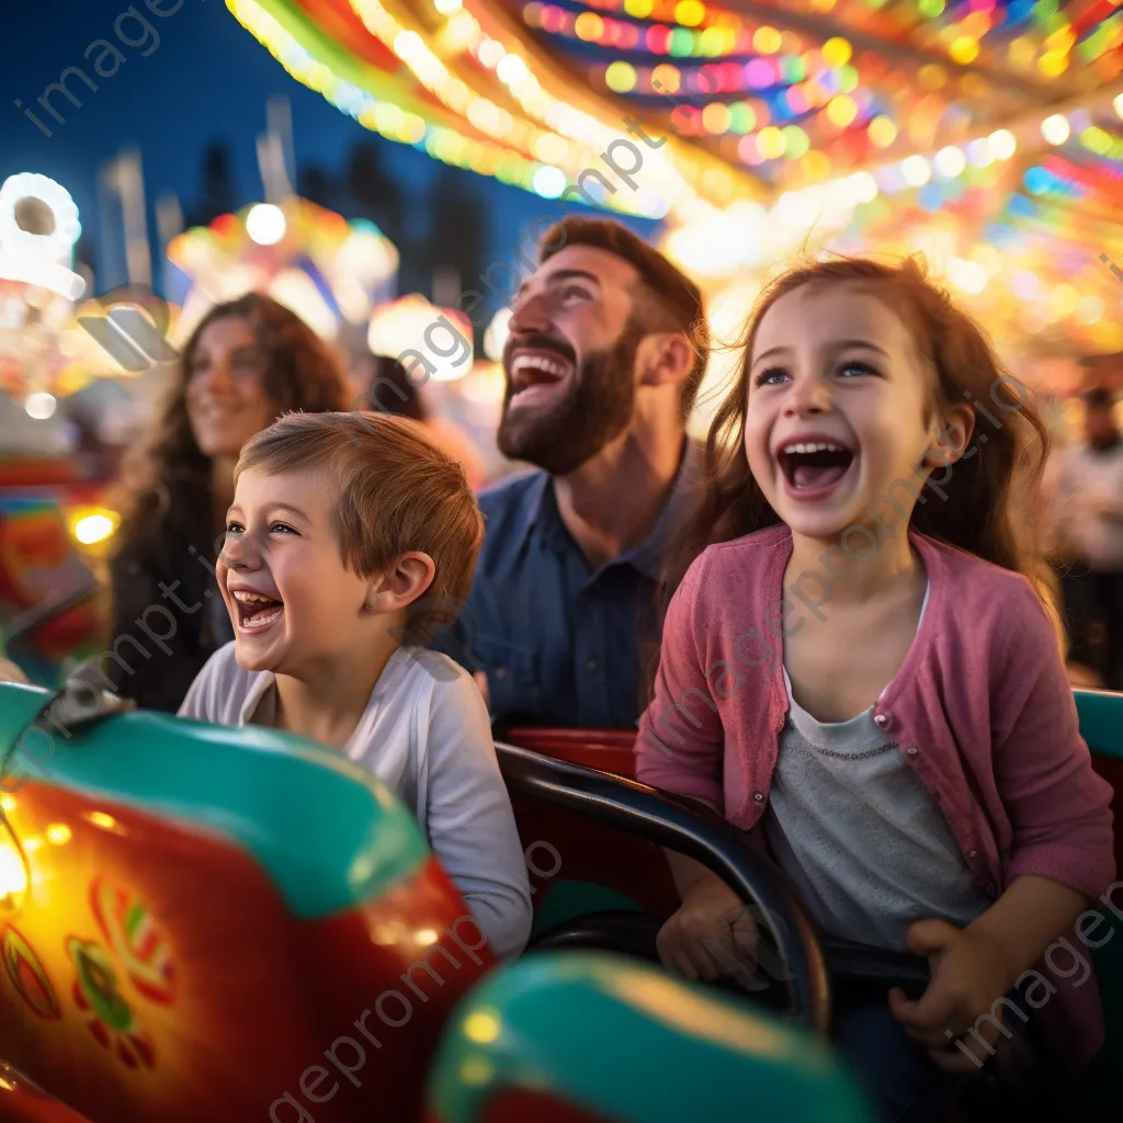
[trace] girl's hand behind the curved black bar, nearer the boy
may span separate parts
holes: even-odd
[[[757,925],[721,882],[706,878],[691,888],[659,930],[656,946],[663,966],[683,978],[712,983],[725,977],[754,988]]]

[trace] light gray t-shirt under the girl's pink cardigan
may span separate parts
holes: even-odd
[[[926,599],[925,599],[926,600]],[[990,898],[874,710],[824,724],[788,693],[765,837],[804,907],[831,935],[894,951],[919,920],[964,926]]]

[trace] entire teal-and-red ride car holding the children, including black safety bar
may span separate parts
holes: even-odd
[[[631,733],[497,730],[536,923],[495,964],[366,773],[115,702],[0,686],[2,1123],[874,1119],[823,1039],[832,986],[915,992],[926,965],[821,939],[732,828],[630,777]],[[1123,696],[1077,704],[1117,813]],[[767,993],[652,961],[675,906],[661,847],[759,910]],[[1119,948],[1094,953],[1107,1038],[1068,1106],[1112,1102]],[[1015,1062],[980,1081],[1001,1117],[1057,1095],[1033,1048],[1015,1035]]]

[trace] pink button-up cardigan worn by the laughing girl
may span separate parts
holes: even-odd
[[[874,720],[939,803],[992,898],[1022,874],[1098,897],[1115,875],[1112,792],[1092,770],[1037,594],[1020,574],[910,539],[929,603]],[[791,556],[791,532],[774,527],[711,546],[691,566],[668,609],[655,700],[636,742],[639,779],[701,798],[742,830],[768,802],[787,716],[782,636],[812,611],[831,611],[829,569],[812,584],[814,599],[784,600]],[[1059,958],[1065,969],[1067,952]],[[1094,980],[1076,987],[1044,973],[1058,993],[1042,1024],[1081,1062],[1103,1041]]]

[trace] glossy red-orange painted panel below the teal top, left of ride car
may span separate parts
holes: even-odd
[[[417,1117],[492,964],[431,857],[300,921],[219,836],[35,782],[8,819],[33,888],[0,911],[0,1058],[27,1078],[91,1123]]]

